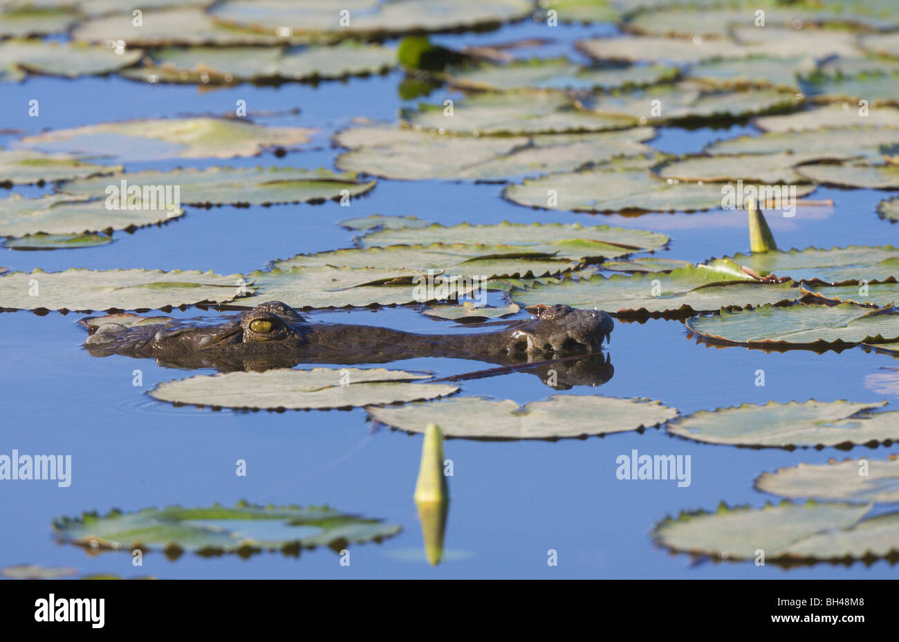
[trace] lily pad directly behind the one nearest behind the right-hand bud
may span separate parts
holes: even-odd
[[[825,152],[682,156],[657,167],[655,173],[662,178],[691,182],[742,179],[768,184],[806,183],[806,177],[794,171],[793,167],[827,157],[841,156],[827,156]]]

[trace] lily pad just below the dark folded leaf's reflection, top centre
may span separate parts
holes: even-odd
[[[416,129],[457,134],[540,134],[627,129],[636,125],[632,115],[602,116],[576,108],[563,92],[519,90],[485,93],[454,103],[452,116],[443,104],[421,104],[403,109],[400,120]]]

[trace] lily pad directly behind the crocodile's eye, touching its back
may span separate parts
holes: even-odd
[[[479,288],[479,282],[463,279],[440,277],[438,283],[435,276],[429,294],[426,272],[396,268],[294,267],[252,272],[248,278],[259,287],[258,297],[283,301],[292,308],[400,306],[452,299]]]

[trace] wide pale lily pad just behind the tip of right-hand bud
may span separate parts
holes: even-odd
[[[814,185],[797,185],[797,196],[811,192]],[[642,169],[602,167],[526,179],[503,190],[503,198],[526,207],[585,212],[717,210],[724,194],[722,183],[675,183]]]

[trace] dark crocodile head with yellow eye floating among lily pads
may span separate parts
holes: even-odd
[[[611,365],[596,354],[612,331],[609,315],[549,306],[538,308],[535,316],[512,321],[496,332],[414,334],[369,325],[312,323],[293,308],[269,301],[215,325],[137,315],[88,317],[80,323],[90,332],[85,348],[95,357],[155,358],[172,368],[269,370],[298,363],[354,365],[416,357],[515,365],[583,354],[583,364],[565,360],[539,366],[541,379],[565,388],[567,372],[576,379],[573,384],[599,384],[611,378]]]

